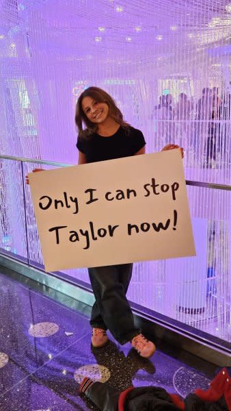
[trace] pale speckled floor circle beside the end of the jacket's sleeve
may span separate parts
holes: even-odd
[[[109,369],[106,366],[100,364],[83,365],[74,373],[74,379],[79,384],[83,381],[83,378],[88,377],[92,381],[106,382],[111,376]]]

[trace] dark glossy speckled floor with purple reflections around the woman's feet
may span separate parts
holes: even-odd
[[[96,410],[78,394],[85,376],[120,390],[154,385],[185,397],[195,388],[208,388],[219,371],[158,341],[151,360],[111,336],[107,346],[93,349],[89,308],[77,311],[72,299],[47,288],[44,295],[44,287],[31,280],[22,284],[16,281],[20,275],[9,273],[0,274],[0,410]]]

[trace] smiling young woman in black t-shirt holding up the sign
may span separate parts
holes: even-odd
[[[116,103],[100,88],[90,87],[81,94],[75,122],[79,130],[79,164],[145,153],[146,142],[141,131],[124,121]],[[169,144],[163,150],[176,148],[179,147]],[[120,344],[130,341],[140,356],[150,358],[156,348],[135,327],[126,299],[132,269],[133,264],[88,269],[96,299],[90,319],[92,345],[103,347],[107,343],[106,330],[109,329]]]

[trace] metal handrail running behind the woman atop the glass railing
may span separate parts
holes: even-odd
[[[54,161],[48,161],[48,160],[36,160],[33,158],[22,158],[22,157],[14,157],[12,155],[1,155],[0,158],[3,158],[4,160],[16,160],[16,161],[21,161],[21,162],[32,162],[36,164],[45,164],[47,166],[58,166],[58,167],[70,167],[74,166],[77,164],[64,164],[64,163],[59,163],[59,162],[54,162]],[[198,182],[195,180],[185,180],[187,186],[197,186],[197,187],[205,187],[205,188],[215,188],[217,190],[228,190],[231,191],[231,186],[228,184],[215,184],[215,183],[208,183],[208,182]]]

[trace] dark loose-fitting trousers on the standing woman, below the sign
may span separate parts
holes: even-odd
[[[132,264],[94,267],[88,270],[96,302],[92,308],[92,327],[109,329],[120,344],[139,334],[126,299]]]

